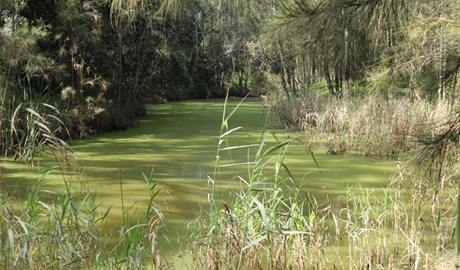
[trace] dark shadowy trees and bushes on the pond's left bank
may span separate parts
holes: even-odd
[[[146,113],[145,104],[224,97],[230,82],[235,95],[246,94],[253,65],[244,42],[235,40],[243,22],[227,14],[229,8],[206,1],[177,7],[166,1],[2,1],[2,153],[24,147],[25,131],[14,120],[26,114],[13,115],[20,107],[55,108],[68,130],[59,136],[68,139],[129,128]]]

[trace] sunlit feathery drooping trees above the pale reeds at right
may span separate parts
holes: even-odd
[[[456,1],[302,0],[273,10],[262,40],[287,96],[318,82],[345,97],[362,82],[389,95],[456,92]]]

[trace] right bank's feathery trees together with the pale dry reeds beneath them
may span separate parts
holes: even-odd
[[[281,77],[266,102],[286,129],[328,134],[332,154],[398,156],[456,115],[458,3],[299,1],[280,13],[267,27],[290,44],[293,83]]]

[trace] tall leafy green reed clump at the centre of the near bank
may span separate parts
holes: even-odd
[[[189,249],[195,267],[306,269],[327,265],[322,218],[327,212],[318,211],[315,201],[302,199],[292,182],[284,163],[290,141],[276,141],[263,150],[267,136],[263,136],[249,178],[239,177],[243,190],[231,196],[231,203],[222,202],[222,208],[211,200],[210,210],[191,224]],[[309,213],[304,207],[307,201]],[[313,252],[316,255],[310,254]]]

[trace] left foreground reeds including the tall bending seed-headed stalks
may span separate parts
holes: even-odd
[[[12,134],[20,139],[17,153],[21,159],[31,160],[37,151],[49,150],[57,165],[37,179],[24,199],[16,198],[5,183],[0,182],[0,268],[140,269],[165,266],[156,242],[156,234],[163,225],[159,206],[154,202],[158,190],[153,170],[150,175],[143,174],[147,186],[145,196],[149,198],[145,216],[140,217],[138,207],[133,204],[122,207],[121,221],[109,221],[111,207],[102,209],[97,194],[86,187],[78,157],[65,141],[56,137],[50,120],[62,122],[32,108],[27,108],[26,112],[29,114],[26,118],[29,134],[19,137],[12,124]],[[55,171],[65,183],[60,192],[44,189],[47,176]],[[122,179],[119,181],[122,187]],[[120,193],[123,201],[122,188]]]

